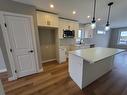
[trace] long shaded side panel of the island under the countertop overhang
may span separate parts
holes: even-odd
[[[83,64],[83,88],[109,72],[114,63],[114,56],[105,58],[101,61],[89,64],[84,60]]]

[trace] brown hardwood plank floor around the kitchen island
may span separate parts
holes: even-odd
[[[68,75],[67,63],[49,62],[44,72],[9,82],[3,79],[6,95],[127,95],[127,52],[115,57],[112,71],[83,90]]]

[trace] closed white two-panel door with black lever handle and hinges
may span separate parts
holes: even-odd
[[[4,17],[17,77],[36,73],[31,18],[11,15]]]

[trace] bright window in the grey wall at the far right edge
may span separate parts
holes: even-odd
[[[120,32],[118,44],[127,45],[127,31]]]

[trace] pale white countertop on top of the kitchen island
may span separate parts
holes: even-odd
[[[95,48],[75,50],[69,53],[79,56],[84,60],[88,61],[90,64],[92,64],[99,60],[105,59],[107,57],[116,55],[124,51],[125,50],[122,49],[95,47]]]

